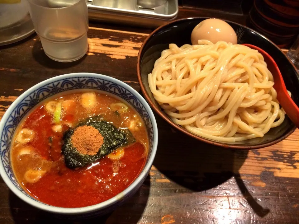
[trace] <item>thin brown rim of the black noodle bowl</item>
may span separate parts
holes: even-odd
[[[166,114],[163,113],[163,111],[159,110],[159,108],[152,102],[150,96],[146,92],[145,86],[144,86],[144,84],[142,82],[141,72],[140,72],[141,53],[142,53],[145,45],[152,38],[152,36],[155,35],[159,30],[163,29],[165,26],[168,26],[170,24],[173,24],[173,23],[176,23],[176,22],[179,22],[179,21],[188,21],[188,20],[194,20],[194,19],[209,19],[209,18],[216,18],[216,17],[199,16],[199,17],[189,17],[189,18],[182,18],[182,19],[178,19],[178,20],[173,20],[173,21],[170,21],[170,22],[168,22],[168,23],[166,23],[166,24],[164,24],[162,26],[159,26],[157,29],[155,29],[153,32],[151,32],[146,37],[146,39],[143,41],[143,43],[142,43],[142,45],[141,45],[141,47],[139,49],[138,55],[137,55],[137,78],[138,78],[138,82],[139,82],[140,89],[142,91],[143,96],[145,97],[146,101],[150,104],[151,108],[154,109],[154,111],[156,113],[158,113],[160,117],[162,117],[165,121],[167,121],[168,124],[170,124],[171,126],[173,126],[176,129],[178,129],[179,131],[187,134],[188,136],[190,136],[192,138],[195,138],[197,140],[200,140],[202,142],[205,142],[205,143],[208,143],[208,144],[212,144],[212,145],[215,145],[215,146],[220,146],[220,147],[223,147],[223,148],[242,149],[242,150],[264,148],[264,147],[268,147],[268,146],[274,145],[274,144],[276,144],[278,142],[281,142],[282,140],[284,140],[285,138],[287,138],[288,136],[290,136],[296,130],[296,126],[294,126],[285,135],[279,137],[278,139],[276,139],[274,141],[267,142],[267,143],[256,144],[256,145],[253,145],[253,146],[231,145],[231,144],[229,144],[229,142],[228,143],[222,143],[222,142],[217,142],[217,141],[210,140],[210,139],[207,139],[207,138],[203,138],[201,136],[198,136],[196,134],[193,134],[193,133],[187,131],[186,129],[182,128],[180,125],[175,124]],[[244,25],[241,25],[239,23],[233,22],[233,21],[224,20],[224,19],[221,19],[221,20],[226,21],[226,22],[230,22],[230,23],[234,23],[235,25],[241,26],[244,29],[248,29],[248,30],[252,31],[253,33],[261,36],[264,39],[266,39],[274,47],[276,47],[277,49],[279,49],[280,52],[283,55],[285,55],[283,53],[283,51],[276,44],[274,44],[271,40],[269,40],[267,37],[265,37],[264,35],[260,34],[259,32],[255,31],[255,30],[253,30],[253,29],[251,29],[251,28],[249,28],[247,26],[244,26]],[[290,59],[286,55],[285,55],[285,57],[287,58],[287,60],[289,61],[289,63],[293,66],[294,70],[297,71],[295,65],[293,65],[293,63],[290,61]],[[297,73],[298,73],[298,71],[297,71]],[[298,73],[298,77],[299,77],[299,73]]]

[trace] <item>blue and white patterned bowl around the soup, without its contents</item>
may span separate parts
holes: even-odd
[[[139,112],[146,125],[149,137],[149,153],[147,156],[146,164],[142,172],[140,172],[140,175],[127,189],[122,191],[120,194],[105,202],[93,206],[83,208],[60,208],[37,201],[21,188],[12,172],[10,146],[17,125],[20,123],[24,116],[28,115],[28,113],[35,105],[57,93],[74,89],[102,90],[126,100]],[[115,78],[105,75],[94,73],[72,73],[53,77],[40,82],[39,84],[31,87],[29,90],[24,92],[21,96],[19,96],[17,100],[15,100],[8,108],[0,122],[0,138],[0,174],[2,176],[2,179],[5,181],[5,183],[13,193],[36,208],[58,214],[72,214],[77,216],[82,215],[85,217],[88,215],[98,215],[112,211],[121,202],[133,195],[139,189],[139,187],[147,177],[154,161],[158,144],[158,129],[154,114],[150,109],[150,106],[147,104],[145,99],[131,86]]]

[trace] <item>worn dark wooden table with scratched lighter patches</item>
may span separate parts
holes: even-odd
[[[244,16],[181,8],[179,17]],[[109,75],[140,90],[136,56],[151,30],[90,23],[89,51],[81,60],[49,59],[37,35],[0,48],[0,117],[31,86],[72,72]],[[158,152],[150,175],[123,206],[104,217],[66,221],[15,196],[0,178],[0,223],[298,223],[299,131],[271,147],[216,148],[173,130],[156,116]],[[181,152],[187,152],[186,155]],[[182,156],[183,155],[183,156]]]

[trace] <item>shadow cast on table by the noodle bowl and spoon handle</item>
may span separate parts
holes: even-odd
[[[213,189],[234,176],[254,212],[260,217],[268,214],[269,209],[262,208],[254,200],[239,174],[247,157],[247,150],[225,149],[200,142],[174,130],[158,115],[155,117],[159,129],[159,144],[154,166],[161,173],[192,191]]]

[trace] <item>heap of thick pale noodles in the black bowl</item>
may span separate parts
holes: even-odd
[[[169,44],[148,75],[165,113],[188,131],[216,141],[263,137],[285,116],[263,56],[244,45],[199,40]]]

